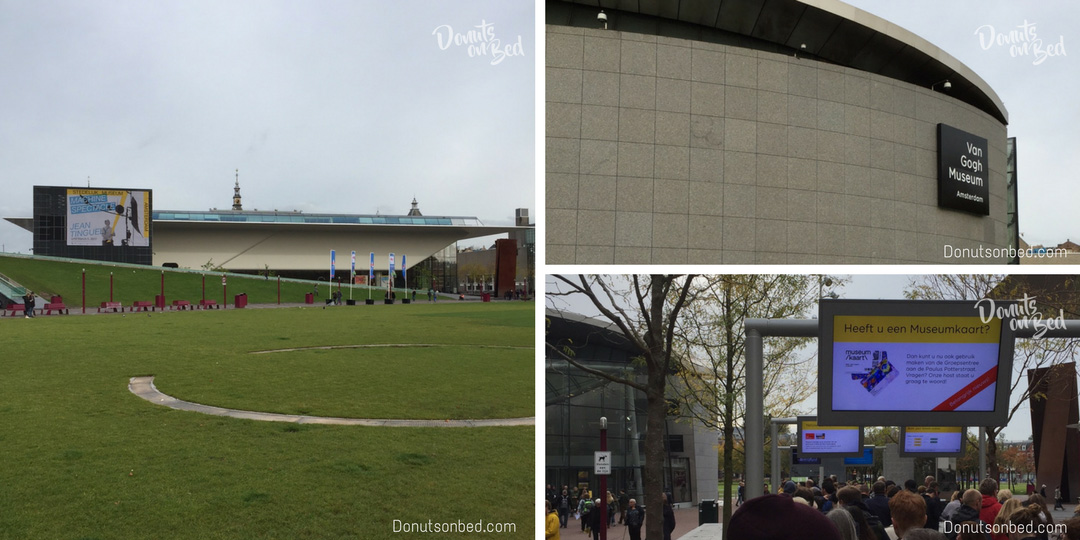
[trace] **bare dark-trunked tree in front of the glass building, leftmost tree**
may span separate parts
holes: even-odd
[[[690,302],[693,275],[554,275],[566,292],[559,295],[582,296],[604,319],[615,324],[631,343],[642,351],[646,367],[643,384],[630,376],[619,376],[594,369],[578,362],[572,343],[548,343],[548,350],[571,365],[596,377],[626,384],[645,393],[645,504],[646,538],[663,538],[663,463],[664,422],[667,416],[667,376],[675,364],[672,342],[675,325],[683,309]],[[624,282],[625,286],[619,282]],[[549,306],[551,301],[549,300]],[[603,495],[603,494],[602,494]]]

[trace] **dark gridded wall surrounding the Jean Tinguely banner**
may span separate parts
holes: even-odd
[[[153,262],[153,224],[151,220],[150,245],[68,245],[67,216],[68,190],[55,186],[33,187],[33,253],[51,257],[103,260],[151,265]],[[97,189],[97,188],[95,188]],[[106,190],[110,188],[102,188]],[[151,197],[149,190],[147,197]]]

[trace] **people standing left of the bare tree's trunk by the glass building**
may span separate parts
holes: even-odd
[[[607,523],[604,523],[602,505],[607,508]],[[571,519],[578,523],[582,534],[594,540],[599,539],[602,528],[617,525],[626,528],[630,540],[642,539],[645,509],[638,505],[636,499],[630,498],[625,490],[619,490],[618,497],[607,491],[602,498],[584,486],[563,486],[556,490],[549,484],[544,507],[544,531],[548,540],[559,540],[559,529],[568,528]],[[671,540],[672,531],[675,530],[675,511],[667,494],[663,494],[663,516],[664,540]]]

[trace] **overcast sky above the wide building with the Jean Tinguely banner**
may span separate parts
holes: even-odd
[[[469,31],[512,54],[470,56]],[[239,168],[244,210],[415,197],[513,225],[535,208],[535,77],[530,1],[0,0],[0,217],[87,176],[229,208]],[[0,242],[32,245],[6,221]]]

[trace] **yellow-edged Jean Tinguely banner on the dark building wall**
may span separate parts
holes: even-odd
[[[149,246],[150,192],[67,190],[67,245]]]

